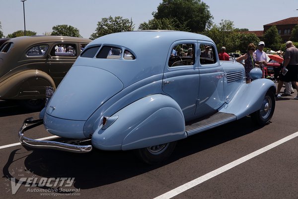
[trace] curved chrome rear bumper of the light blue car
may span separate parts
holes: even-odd
[[[28,124],[31,124],[28,126]],[[43,124],[43,119],[33,120],[32,117],[27,118],[23,122],[23,126],[19,130],[19,141],[22,145],[30,148],[39,149],[56,149],[61,151],[68,151],[74,153],[87,153],[92,150],[92,145],[79,145],[80,143],[90,141],[90,139],[75,140],[75,144],[68,144],[64,142],[48,141],[48,140],[34,140],[24,137],[24,132]],[[72,140],[73,141],[73,140]]]

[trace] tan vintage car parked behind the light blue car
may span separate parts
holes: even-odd
[[[46,87],[57,88],[90,39],[22,36],[0,47],[0,100],[18,100],[27,109],[44,106]]]

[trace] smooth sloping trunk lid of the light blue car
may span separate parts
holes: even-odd
[[[122,82],[108,71],[73,66],[49,101],[46,113],[63,119],[87,120],[101,104],[122,89]]]

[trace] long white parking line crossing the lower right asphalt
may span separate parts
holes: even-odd
[[[205,174],[204,176],[201,176],[201,177],[199,177],[195,180],[192,180],[192,181],[190,181],[190,182],[188,182],[184,185],[181,185],[180,187],[177,187],[177,188],[175,188],[175,189],[173,189],[173,190],[171,190],[171,191],[169,191],[169,192],[167,192],[163,195],[160,195],[160,196],[156,197],[155,199],[170,199],[174,196],[177,196],[178,194],[181,194],[182,192],[185,192],[185,191],[187,191],[187,190],[189,190],[189,189],[191,189],[191,188],[193,188],[197,185],[200,185],[201,183],[203,183],[203,182],[205,182],[205,181],[207,181],[207,180],[209,180],[213,177],[216,177],[216,176],[224,173],[225,171],[227,171],[227,170],[229,170],[229,169],[231,169],[231,168],[233,168],[233,167],[235,167],[235,166],[237,166],[237,165],[239,165],[243,162],[246,162],[247,160],[250,160],[251,158],[254,158],[254,157],[256,157],[256,156],[258,156],[258,155],[260,155],[260,154],[262,154],[262,153],[264,153],[264,152],[266,152],[266,151],[268,151],[268,150],[270,150],[270,149],[272,149],[272,148],[274,148],[274,147],[276,147],[280,144],[283,144],[283,143],[285,143],[285,142],[287,142],[287,141],[289,141],[289,140],[291,140],[291,139],[293,139],[297,136],[298,136],[298,132],[293,133],[292,135],[289,135],[289,136],[287,136],[287,137],[285,137],[285,138],[283,138],[283,139],[281,139],[277,142],[274,142],[274,143],[272,143],[268,146],[265,146],[265,147],[255,151],[255,152],[252,152],[252,153],[250,153],[250,154],[248,154],[248,155],[246,155],[242,158],[239,158],[238,160],[235,160],[235,161],[233,161],[233,162],[231,162],[227,165],[224,165],[221,168],[218,168],[218,169],[216,169],[216,170],[214,170],[214,171],[212,171],[208,174]]]

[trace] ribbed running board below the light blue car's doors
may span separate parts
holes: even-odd
[[[225,123],[236,120],[237,117],[234,114],[217,112],[209,117],[205,117],[201,120],[197,120],[194,123],[188,124],[185,126],[185,131],[187,136],[193,135]]]

